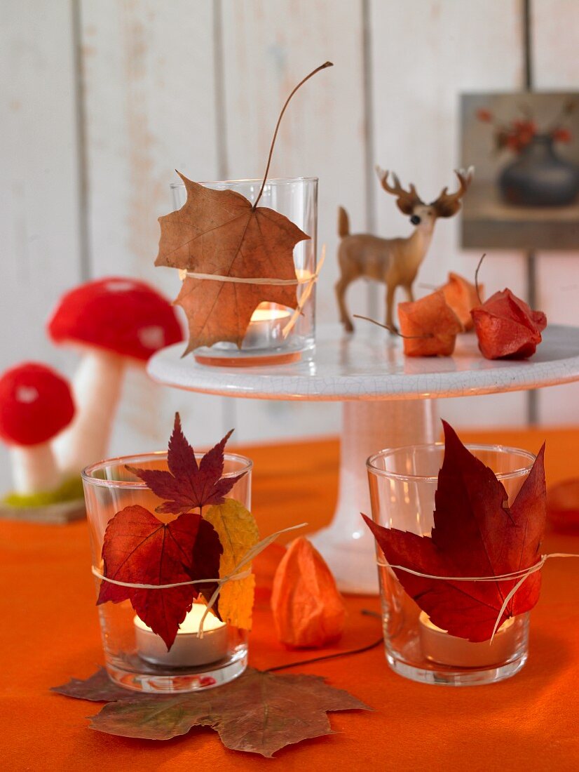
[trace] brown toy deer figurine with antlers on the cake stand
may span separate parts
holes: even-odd
[[[436,219],[456,215],[460,201],[473,179],[474,170],[472,167],[466,171],[455,170],[459,179],[458,191],[448,193],[448,188],[443,188],[439,197],[431,204],[425,204],[420,199],[414,185],[410,185],[409,190],[405,191],[393,172],[394,185],[391,186],[388,182],[389,172],[382,171],[379,167],[376,167],[376,171],[382,188],[396,196],[396,204],[403,214],[410,215],[414,230],[406,239],[380,239],[379,236],[369,233],[350,235],[348,215],[344,208],[339,208],[338,235],[342,241],[338,247],[340,278],[335,285],[335,293],[340,320],[348,332],[352,332],[354,326],[345,304],[345,291],[360,276],[385,283],[386,324],[396,330],[393,319],[396,287],[403,287],[408,300],[414,300],[412,283],[428,251]]]

